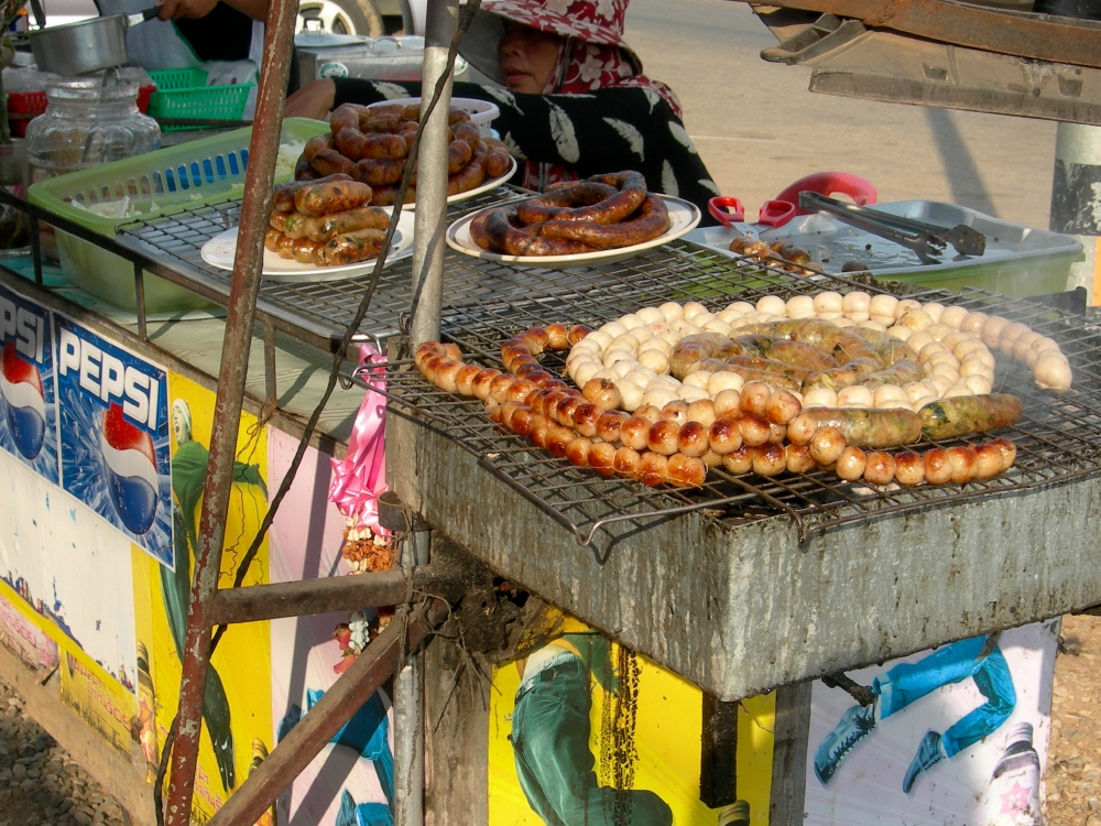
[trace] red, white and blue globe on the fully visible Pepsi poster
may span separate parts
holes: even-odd
[[[152,437],[128,422],[122,406],[113,403],[103,414],[100,449],[119,519],[128,530],[145,533],[156,518],[160,490]]]

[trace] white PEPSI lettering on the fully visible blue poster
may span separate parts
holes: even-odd
[[[128,419],[157,430],[160,382],[122,360],[105,352],[91,341],[86,341],[69,329],[61,328],[57,335],[57,376],[64,378],[75,371],[80,389],[110,404],[122,403]]]

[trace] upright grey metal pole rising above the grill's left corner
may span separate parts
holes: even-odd
[[[427,106],[447,72],[447,52],[458,28],[458,0],[428,0],[425,25],[422,104]],[[413,345],[439,338],[444,296],[444,250],[447,247],[447,112],[451,105],[448,77],[439,102],[424,124],[417,160],[416,217],[413,224],[413,295],[416,308],[410,334]]]

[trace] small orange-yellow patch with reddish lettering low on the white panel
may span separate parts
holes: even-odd
[[[133,743],[130,728],[137,715],[134,695],[83,651],[65,645],[62,649],[62,703],[129,760]]]

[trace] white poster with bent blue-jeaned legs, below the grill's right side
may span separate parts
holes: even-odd
[[[816,683],[805,823],[973,826],[1037,808],[1057,639],[1053,620],[850,672],[866,706]]]

